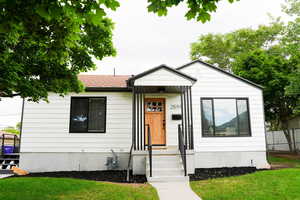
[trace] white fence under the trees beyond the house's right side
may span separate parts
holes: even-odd
[[[290,130],[293,150],[300,151],[300,129]],[[289,151],[289,145],[283,131],[267,132],[268,151]]]

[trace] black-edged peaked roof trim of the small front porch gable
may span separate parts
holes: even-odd
[[[131,86],[131,85],[133,85],[133,82],[134,82],[135,80],[137,80],[137,79],[139,79],[139,78],[141,78],[141,77],[144,77],[144,76],[146,76],[146,75],[148,75],[148,74],[151,74],[151,73],[153,73],[153,72],[155,72],[155,71],[158,71],[158,70],[160,70],[160,69],[166,69],[166,70],[168,70],[168,71],[170,71],[170,72],[173,72],[173,73],[175,73],[175,74],[177,74],[177,75],[179,75],[179,76],[181,76],[181,77],[184,77],[184,78],[186,78],[186,79],[188,79],[188,80],[190,80],[190,81],[193,81],[193,82],[197,81],[197,79],[195,79],[195,78],[193,78],[193,77],[191,77],[191,76],[189,76],[189,75],[187,75],[187,74],[185,74],[185,73],[183,73],[183,72],[180,72],[180,71],[178,71],[178,70],[176,70],[176,69],[174,69],[174,68],[171,68],[171,67],[169,67],[169,66],[163,64],[163,65],[159,65],[159,66],[157,66],[157,67],[151,68],[151,69],[149,69],[149,70],[147,70],[147,71],[144,71],[144,72],[142,72],[142,73],[140,73],[140,74],[137,74],[137,75],[135,75],[135,76],[132,76],[131,78],[128,79],[128,84]]]

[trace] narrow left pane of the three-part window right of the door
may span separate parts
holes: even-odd
[[[202,130],[203,135],[214,134],[213,112],[212,112],[212,100],[202,100]]]

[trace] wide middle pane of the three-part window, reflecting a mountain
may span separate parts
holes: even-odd
[[[235,99],[214,99],[216,136],[237,135]]]

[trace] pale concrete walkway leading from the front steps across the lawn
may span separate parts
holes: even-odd
[[[150,182],[158,192],[160,200],[201,200],[190,188],[188,181],[184,182]]]

